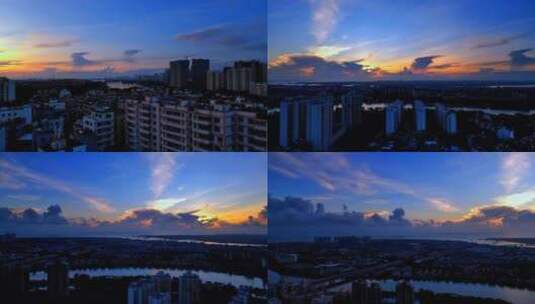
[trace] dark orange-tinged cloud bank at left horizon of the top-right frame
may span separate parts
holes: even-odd
[[[275,81],[371,80],[375,70],[360,61],[337,62],[308,54],[286,54],[272,62],[269,73]]]

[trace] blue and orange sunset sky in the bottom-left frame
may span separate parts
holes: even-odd
[[[0,233],[265,233],[267,156],[3,153]]]

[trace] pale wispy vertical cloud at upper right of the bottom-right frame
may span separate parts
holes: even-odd
[[[501,181],[507,192],[513,191],[529,173],[531,160],[527,153],[507,153],[501,164]]]

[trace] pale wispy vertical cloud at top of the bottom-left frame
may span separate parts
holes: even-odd
[[[159,198],[178,171],[176,159],[173,153],[151,153],[149,156],[151,165],[150,189],[154,198]]]

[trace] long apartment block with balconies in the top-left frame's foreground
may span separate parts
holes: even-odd
[[[229,104],[193,100],[126,102],[126,141],[134,151],[265,151],[267,122]]]

